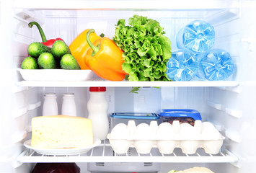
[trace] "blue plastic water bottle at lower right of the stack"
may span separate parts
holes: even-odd
[[[198,54],[198,78],[208,81],[223,81],[234,72],[234,61],[226,50],[213,49],[207,53]]]

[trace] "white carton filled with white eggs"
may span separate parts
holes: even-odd
[[[125,154],[134,147],[138,154],[149,154],[151,148],[158,148],[162,154],[172,154],[175,148],[181,148],[184,154],[195,154],[197,148],[203,148],[207,154],[218,154],[224,136],[209,122],[195,121],[192,126],[179,121],[161,123],[151,121],[150,125],[135,125],[133,120],[128,125],[115,125],[107,135],[116,154]]]

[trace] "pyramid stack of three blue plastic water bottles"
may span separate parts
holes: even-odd
[[[211,49],[215,31],[211,24],[195,20],[176,36],[177,48],[167,62],[167,76],[172,81],[192,79],[222,81],[234,72],[234,62],[226,50]]]

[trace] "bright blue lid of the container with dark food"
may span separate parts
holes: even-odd
[[[200,112],[197,110],[172,109],[161,110],[160,117],[192,117],[194,120],[202,120]]]

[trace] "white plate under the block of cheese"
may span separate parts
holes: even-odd
[[[82,148],[36,148],[31,146],[31,140],[27,140],[24,143],[24,146],[30,148],[37,152],[38,154],[51,155],[51,156],[63,156],[63,155],[77,155],[77,154],[85,154],[90,149],[99,146],[101,143],[100,139],[94,138],[93,145],[82,147]]]

